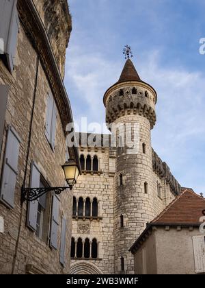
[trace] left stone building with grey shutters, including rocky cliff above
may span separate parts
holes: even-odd
[[[71,31],[68,3],[0,3],[0,274],[70,271],[72,193],[21,203],[21,187],[64,187],[72,122],[62,77]]]

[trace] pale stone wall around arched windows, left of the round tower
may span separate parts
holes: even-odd
[[[94,148],[89,148],[90,151],[87,151],[87,148],[80,149],[79,154],[83,154],[85,157],[87,154],[91,156],[97,155],[99,159],[99,170],[102,171],[102,174],[91,175],[87,172],[86,175],[79,176],[77,185],[74,187],[74,196],[79,198],[90,197],[92,200],[94,197],[98,199],[99,219],[72,219],[72,237],[77,240],[79,237],[82,239],[96,238],[99,242],[99,255],[98,260],[90,259],[87,260],[87,265],[96,265],[100,268],[103,274],[113,274],[113,265],[114,265],[114,251],[113,251],[113,174],[109,173],[109,167],[113,171],[113,161],[112,158],[109,158],[109,148],[102,149],[98,148],[98,152]],[[111,162],[111,163],[110,163]],[[83,234],[79,232],[80,224],[88,224],[90,227],[89,233]],[[75,259],[71,261],[72,265],[81,266],[81,260]],[[72,269],[71,265],[71,269]],[[74,271],[79,270],[79,267],[76,267]]]

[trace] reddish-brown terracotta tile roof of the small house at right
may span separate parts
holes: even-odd
[[[200,224],[200,217],[205,211],[205,199],[184,188],[154,220],[152,224]]]

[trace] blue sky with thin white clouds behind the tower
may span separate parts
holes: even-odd
[[[157,94],[152,146],[184,187],[205,195],[204,0],[69,0],[65,84],[75,121],[105,122],[102,97],[131,45],[141,79]]]

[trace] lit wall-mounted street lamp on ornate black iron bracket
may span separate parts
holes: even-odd
[[[55,194],[59,195],[61,191],[69,188],[72,190],[74,184],[77,183],[77,178],[79,176],[79,168],[77,163],[70,158],[64,165],[62,165],[62,169],[64,170],[64,175],[66,178],[66,182],[68,183],[68,187],[38,187],[38,188],[21,188],[21,203],[26,201],[35,201],[40,196],[44,195],[49,191],[54,191]]]

